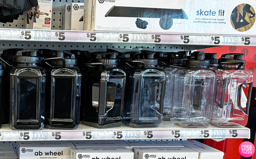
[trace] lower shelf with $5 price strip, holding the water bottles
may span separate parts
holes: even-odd
[[[82,122],[81,122],[82,123]],[[130,128],[123,125],[117,128],[99,129],[80,124],[76,130],[14,131],[9,124],[0,129],[1,141],[30,140],[150,140],[187,138],[250,138],[249,128],[181,128],[164,121],[157,128]]]

